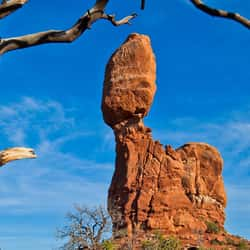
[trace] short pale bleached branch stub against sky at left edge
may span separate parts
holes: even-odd
[[[36,158],[36,154],[32,148],[8,148],[0,151],[0,166],[3,166],[10,161],[27,158]]]

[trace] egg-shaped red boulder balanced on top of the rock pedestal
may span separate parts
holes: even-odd
[[[131,34],[106,67],[102,110],[110,126],[144,117],[156,90],[155,56],[147,36]]]

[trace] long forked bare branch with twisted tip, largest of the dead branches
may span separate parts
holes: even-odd
[[[68,30],[48,30],[44,32],[12,37],[0,40],[0,55],[7,51],[27,48],[45,43],[70,43],[81,36],[84,31],[90,29],[91,25],[99,19],[106,19],[114,26],[129,24],[129,21],[136,17],[136,14],[127,16],[116,21],[114,15],[104,12],[108,0],[97,0],[96,4],[87,11],[80,19]]]

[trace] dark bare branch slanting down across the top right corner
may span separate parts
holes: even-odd
[[[215,9],[215,8],[209,7],[206,4],[204,4],[203,1],[201,1],[201,0],[190,0],[190,1],[191,1],[191,3],[194,4],[194,6],[196,8],[198,8],[199,10],[201,10],[201,11],[203,11],[211,16],[231,19],[233,21],[236,21],[236,22],[242,24],[243,26],[247,27],[248,29],[250,29],[250,20],[241,16],[238,13],[228,12],[225,10],[220,10],[220,9]]]

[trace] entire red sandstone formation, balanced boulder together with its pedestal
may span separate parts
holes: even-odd
[[[205,143],[175,150],[152,139],[142,118],[156,90],[155,65],[149,38],[139,34],[130,35],[107,65],[102,110],[116,138],[108,209],[115,233],[160,230],[196,240],[207,222],[224,227],[223,160]]]

